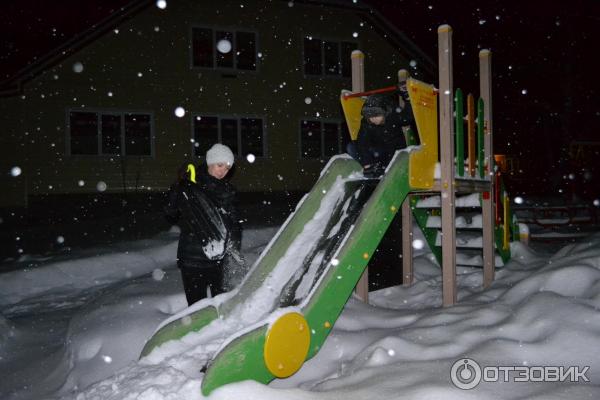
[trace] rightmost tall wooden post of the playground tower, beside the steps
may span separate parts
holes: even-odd
[[[490,179],[489,193],[482,196],[481,214],[483,219],[483,286],[488,287],[494,281],[494,150],[492,137],[492,53],[489,50],[479,52],[479,92],[483,99],[484,157],[485,171]]]

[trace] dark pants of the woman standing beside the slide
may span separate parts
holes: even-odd
[[[224,292],[221,262],[189,263],[179,260],[177,266],[181,270],[183,289],[188,305],[208,297],[209,287],[212,297]]]

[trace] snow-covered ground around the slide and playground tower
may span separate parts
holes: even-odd
[[[274,233],[245,233],[249,262]],[[226,339],[218,329],[193,348],[184,338],[137,360],[156,326],[186,306],[176,238],[165,232],[1,274],[0,398],[201,399],[199,367]],[[553,254],[520,243],[512,251],[487,290],[481,270],[460,268],[459,304],[450,308],[440,307],[439,268],[418,251],[416,283],[372,292],[370,305],[350,299],[297,374],[268,386],[227,385],[210,398],[600,398],[600,234]],[[455,362],[473,365],[463,358],[487,374],[471,390],[451,381]],[[508,382],[490,381],[495,366]],[[577,367],[579,382],[518,382],[544,371],[551,380],[558,367]]]

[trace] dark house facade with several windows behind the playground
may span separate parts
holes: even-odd
[[[352,1],[135,1],[3,83],[0,207],[163,191],[215,142],[239,191],[307,190],[344,152],[355,49],[367,89],[434,70]]]

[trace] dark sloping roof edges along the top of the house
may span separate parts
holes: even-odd
[[[290,0],[280,0],[289,2]],[[425,54],[415,43],[404,35],[397,27],[387,20],[375,8],[360,3],[349,3],[348,0],[293,0],[294,3],[307,4],[328,8],[339,8],[354,10],[358,16],[371,25],[373,29],[396,47],[401,53],[409,58],[417,58],[420,67],[427,73],[432,74],[435,71],[435,64],[431,58]],[[119,0],[113,1],[117,6],[121,3]],[[22,60],[23,63],[11,71],[10,75],[0,81],[0,96],[13,96],[21,92],[22,86],[28,81],[34,79],[48,68],[55,66],[73,53],[87,46],[89,43],[97,40],[99,37],[114,29],[122,22],[134,18],[144,9],[154,6],[155,0],[123,0],[122,5],[118,6],[113,12],[102,15],[98,21],[92,22],[91,26],[75,27],[77,31],[72,37],[63,41],[57,47],[52,49],[42,49],[46,51],[40,57]],[[111,10],[112,11],[112,10]],[[39,20],[38,20],[39,21]],[[30,23],[32,21],[29,21]],[[33,22],[35,24],[35,21]],[[88,23],[81,19],[81,23]],[[49,50],[49,51],[48,51]],[[24,65],[23,65],[24,64]]]

